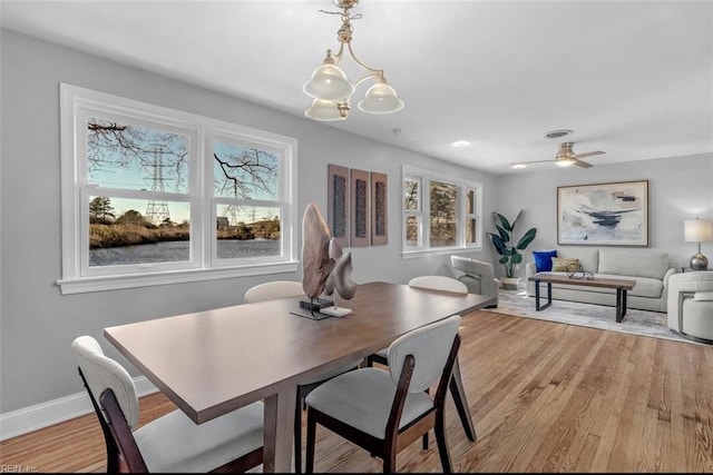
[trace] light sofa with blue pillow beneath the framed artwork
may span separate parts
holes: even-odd
[[[675,274],[668,263],[668,253],[658,249],[623,249],[558,247],[557,257],[576,258],[595,277],[636,280],[627,293],[626,307],[642,310],[666,311],[668,278]],[[537,268],[535,261],[525,268],[527,295],[535,296],[535,284],[529,280]],[[561,273],[566,275],[566,273]],[[544,284],[540,284],[540,296]],[[553,298],[597,305],[616,305],[616,289],[553,284]]]

